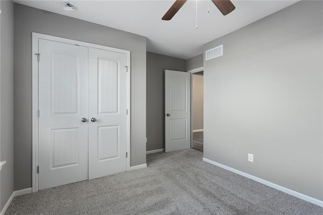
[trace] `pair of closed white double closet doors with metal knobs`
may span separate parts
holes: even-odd
[[[126,171],[126,55],[39,39],[39,190]]]

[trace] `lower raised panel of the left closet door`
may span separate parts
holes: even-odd
[[[51,130],[51,169],[79,163],[78,128]]]

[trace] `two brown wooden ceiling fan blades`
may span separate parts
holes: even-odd
[[[182,8],[187,0],[176,0],[172,7],[166,12],[166,14],[161,18],[162,20],[171,20],[175,14]],[[214,5],[220,10],[220,12],[225,16],[231,13],[236,7],[232,4],[230,0],[211,0]]]

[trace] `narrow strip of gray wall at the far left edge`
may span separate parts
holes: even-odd
[[[14,3],[1,1],[0,20],[0,211],[14,192]]]

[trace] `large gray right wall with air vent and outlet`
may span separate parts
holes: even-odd
[[[204,157],[323,200],[321,1],[204,45]],[[254,154],[254,162],[247,154]]]

